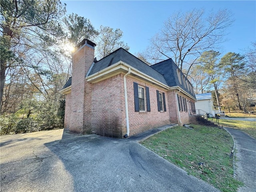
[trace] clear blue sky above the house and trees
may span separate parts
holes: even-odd
[[[143,51],[150,38],[158,32],[174,12],[204,8],[206,14],[213,10],[228,9],[234,14],[234,24],[228,28],[227,42],[222,44],[222,54],[243,53],[256,41],[256,1],[62,1],[67,14],[78,14],[90,19],[94,28],[100,25],[120,28],[122,40],[130,46],[130,53]]]

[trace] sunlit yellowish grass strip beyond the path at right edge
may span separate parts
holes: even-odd
[[[224,127],[240,129],[256,139],[256,122],[255,121],[219,119],[219,123]]]

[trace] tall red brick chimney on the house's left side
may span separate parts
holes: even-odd
[[[95,46],[94,42],[84,39],[73,54],[69,126],[72,132],[86,133],[92,129],[92,84],[85,76],[94,61]]]

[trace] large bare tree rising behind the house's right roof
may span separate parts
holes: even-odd
[[[151,54],[154,57],[150,59],[173,58],[182,71],[184,64],[188,64],[188,74],[202,52],[224,42],[225,31],[233,22],[232,14],[226,9],[207,16],[203,9],[178,12],[168,18],[160,32],[151,38],[150,49],[155,54]]]

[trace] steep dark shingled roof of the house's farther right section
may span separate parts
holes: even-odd
[[[184,76],[184,74],[181,72],[181,70],[178,68],[178,66],[174,63],[174,61],[172,59],[164,60],[157,64],[151,65],[150,67],[153,68],[154,70],[158,71],[159,73],[161,73],[164,76],[166,82],[168,83],[168,86],[170,86],[170,87],[180,86],[180,88],[182,88],[183,90],[188,92],[191,96],[196,98],[194,92],[191,92],[190,90],[188,90],[187,86],[186,87],[184,86],[184,83],[180,84],[179,79],[178,79],[178,74],[176,72],[177,69],[180,71],[182,82],[183,82],[182,76]],[[190,84],[190,81],[185,76],[184,76],[184,78]]]

